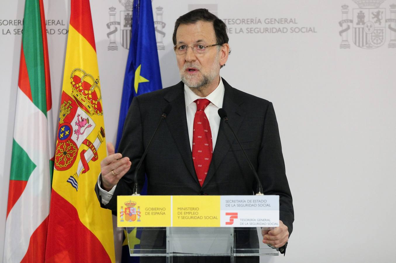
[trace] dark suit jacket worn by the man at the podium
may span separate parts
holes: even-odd
[[[280,220],[293,230],[293,204],[287,182],[278,123],[272,103],[232,88],[223,79],[223,109],[263,184],[264,194],[280,196]],[[162,109],[172,106],[161,123],[138,173],[142,187],[145,173],[149,195],[248,195],[256,192],[255,176],[227,124],[221,121],[208,175],[202,187],[195,173],[188,138],[184,84],[145,93],[133,98],[125,120],[119,152],[128,156],[131,169],[118,182],[109,204],[116,212],[117,196],[132,194],[133,174]]]

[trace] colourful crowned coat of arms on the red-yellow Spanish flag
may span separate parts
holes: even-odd
[[[71,96],[62,93],[54,167],[59,171],[69,170],[79,155],[76,172],[67,180],[78,191],[78,177],[88,172],[89,161],[98,159],[97,149],[104,141],[105,130],[101,127],[93,142],[88,139],[96,126],[92,117],[103,115],[99,78],[83,69],[74,69],[70,84]]]

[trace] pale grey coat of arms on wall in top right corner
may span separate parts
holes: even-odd
[[[342,41],[340,48],[350,48],[348,36],[352,34],[355,46],[364,49],[379,48],[386,42],[386,32],[390,30],[388,48],[396,48],[396,4],[390,5],[390,19],[386,19],[386,9],[380,8],[385,0],[353,0],[359,8],[352,10],[349,19],[349,7],[341,8],[342,19],[339,22],[343,29],[339,32]],[[350,27],[352,24],[352,30]],[[386,27],[386,25],[388,25]]]

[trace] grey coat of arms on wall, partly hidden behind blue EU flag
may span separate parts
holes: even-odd
[[[109,29],[109,32],[107,33],[107,38],[109,38],[109,46],[107,46],[107,50],[110,51],[118,50],[116,42],[116,32],[118,32],[118,27],[120,28],[119,34],[121,46],[125,49],[129,49],[129,44],[131,43],[133,0],[118,1],[122,6],[124,6],[124,10],[120,11],[120,21],[116,21],[116,8],[110,7],[109,23],[106,24],[107,29]],[[162,29],[164,29],[166,24],[162,21],[162,15],[164,13],[164,11],[162,10],[163,8],[160,6],[156,8],[156,21],[154,21],[158,50],[165,49],[165,45],[163,42],[165,32],[162,31]]]

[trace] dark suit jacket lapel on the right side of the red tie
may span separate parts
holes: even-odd
[[[245,112],[240,108],[240,105],[243,101],[234,94],[235,89],[232,88],[224,79],[224,100],[223,100],[223,109],[227,112],[227,117],[229,120],[229,124],[232,129],[238,134],[238,130],[242,124],[242,121],[245,117]],[[225,154],[227,154],[228,150],[231,147],[231,144],[235,141],[234,135],[232,131],[228,127],[227,124],[224,123],[223,120],[220,122],[219,133],[217,134],[217,140],[215,149],[213,151],[212,161],[209,166],[208,175],[206,175],[206,179],[204,181],[205,187],[210,181],[210,179],[215,174],[217,168],[219,168],[221,162],[223,161]]]

